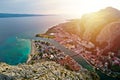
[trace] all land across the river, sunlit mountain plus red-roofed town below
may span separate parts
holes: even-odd
[[[50,28],[57,42],[112,77],[120,76],[120,11],[107,7]]]

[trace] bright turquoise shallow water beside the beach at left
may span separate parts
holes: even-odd
[[[29,39],[10,37],[0,46],[0,60],[13,65],[24,63],[30,51],[31,42]]]

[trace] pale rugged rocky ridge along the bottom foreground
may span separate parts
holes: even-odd
[[[86,70],[73,72],[51,61],[35,64],[10,66],[0,63],[0,80],[99,80],[98,76]]]

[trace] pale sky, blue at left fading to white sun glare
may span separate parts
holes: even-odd
[[[0,0],[0,13],[82,15],[112,6],[120,0]]]

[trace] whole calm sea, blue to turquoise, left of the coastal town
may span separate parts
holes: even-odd
[[[0,62],[11,65],[26,62],[35,34],[65,20],[62,16],[0,18]]]

